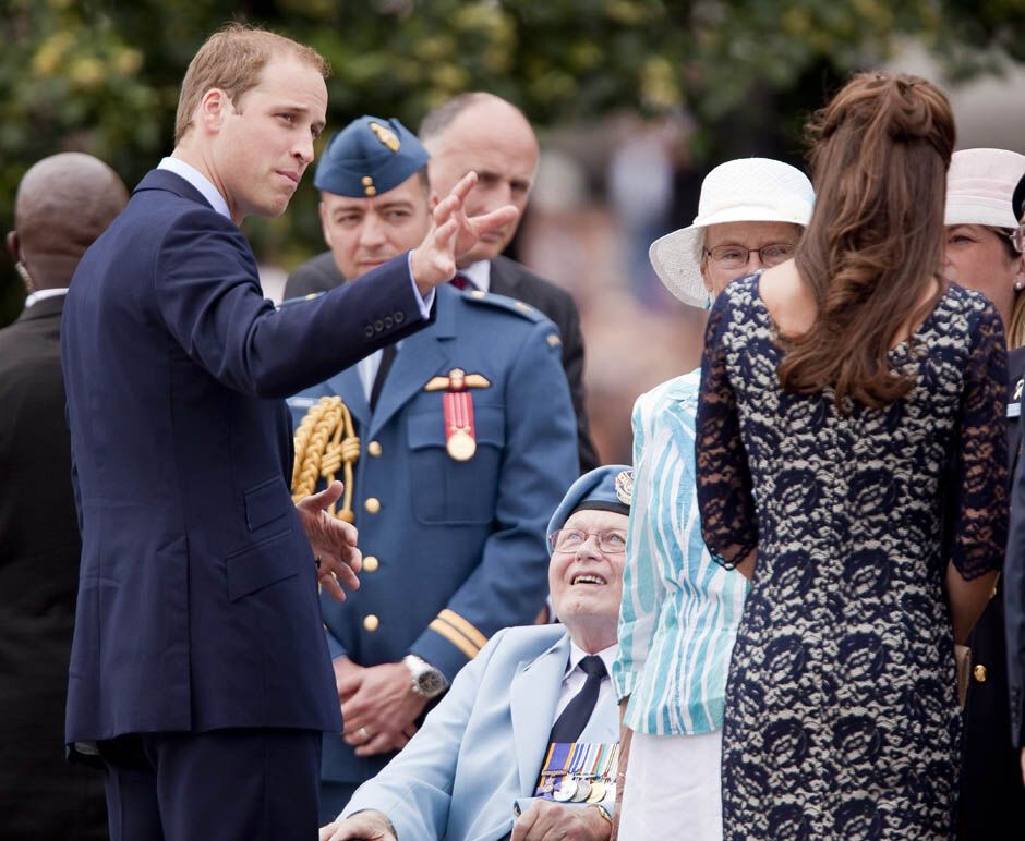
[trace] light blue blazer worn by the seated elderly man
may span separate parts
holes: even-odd
[[[402,841],[504,837],[512,829],[514,804],[533,795],[568,662],[563,625],[496,633],[342,816],[383,812]],[[605,697],[580,741],[619,741],[615,694]]]

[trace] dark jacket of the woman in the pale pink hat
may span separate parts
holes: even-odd
[[[1008,455],[1015,474],[1022,443],[1022,378],[1025,349],[1008,354]],[[1016,500],[1015,505],[1021,505]],[[1015,509],[1017,510],[1017,509]],[[1008,564],[1011,558],[1008,558]],[[972,678],[965,704],[964,751],[957,836],[964,841],[1015,841],[1025,827],[1025,787],[1017,751],[1008,731],[1008,646],[1004,638],[1003,584],[972,631]]]

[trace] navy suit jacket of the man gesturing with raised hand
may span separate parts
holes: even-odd
[[[424,324],[406,256],[276,310],[238,227],[178,175],[143,179],[61,330],[83,540],[69,742],[338,731],[284,398]]]

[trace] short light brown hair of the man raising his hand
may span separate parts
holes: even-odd
[[[310,64],[324,78],[330,75],[330,66],[321,53],[284,35],[239,23],[215,32],[200,47],[182,80],[174,120],[174,145],[185,136],[192,125],[192,114],[207,90],[219,87],[231,103],[238,106],[239,97],[260,83],[264,66],[281,53]]]

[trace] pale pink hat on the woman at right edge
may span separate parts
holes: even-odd
[[[1011,196],[1025,174],[1025,155],[1008,149],[962,149],[950,159],[943,224],[1017,228]]]

